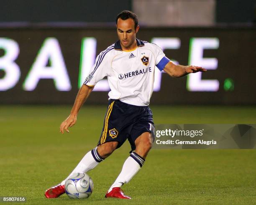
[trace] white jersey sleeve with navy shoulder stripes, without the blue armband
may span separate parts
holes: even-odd
[[[102,51],[96,58],[95,64],[92,66],[89,75],[84,81],[87,86],[95,86],[97,82],[107,76],[108,56]]]

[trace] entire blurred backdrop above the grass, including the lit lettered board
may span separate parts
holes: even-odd
[[[115,17],[137,13],[137,38],[182,65],[209,72],[171,79],[156,71],[151,104],[255,105],[254,0],[2,0],[0,104],[72,104],[96,56],[117,40]],[[104,104],[107,80],[88,99]]]

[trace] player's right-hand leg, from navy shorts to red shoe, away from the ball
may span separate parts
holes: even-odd
[[[131,106],[136,121],[131,124],[128,140],[134,152],[125,160],[123,168],[105,197],[126,198],[120,187],[128,183],[141,169],[154,142],[154,122],[151,109],[147,106]]]

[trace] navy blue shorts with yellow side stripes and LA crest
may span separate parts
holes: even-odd
[[[135,150],[135,140],[144,132],[150,132],[154,137],[154,131],[153,115],[148,106],[130,105],[110,99],[97,145],[115,141],[119,148],[128,139],[131,149]]]

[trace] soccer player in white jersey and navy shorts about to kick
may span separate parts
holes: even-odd
[[[60,132],[69,132],[68,128],[76,123],[78,111],[94,86],[107,76],[111,91],[99,142],[97,147],[85,154],[72,173],[92,170],[128,139],[132,151],[105,197],[131,199],[124,195],[120,187],[141,169],[154,142],[154,122],[148,104],[153,92],[155,67],[172,77],[204,72],[206,69],[175,65],[156,44],[138,40],[138,18],[131,11],[124,10],[118,14],[116,29],[119,40],[97,56],[70,115],[61,123]],[[65,192],[64,184],[65,180],[49,188],[45,196],[59,197]]]

